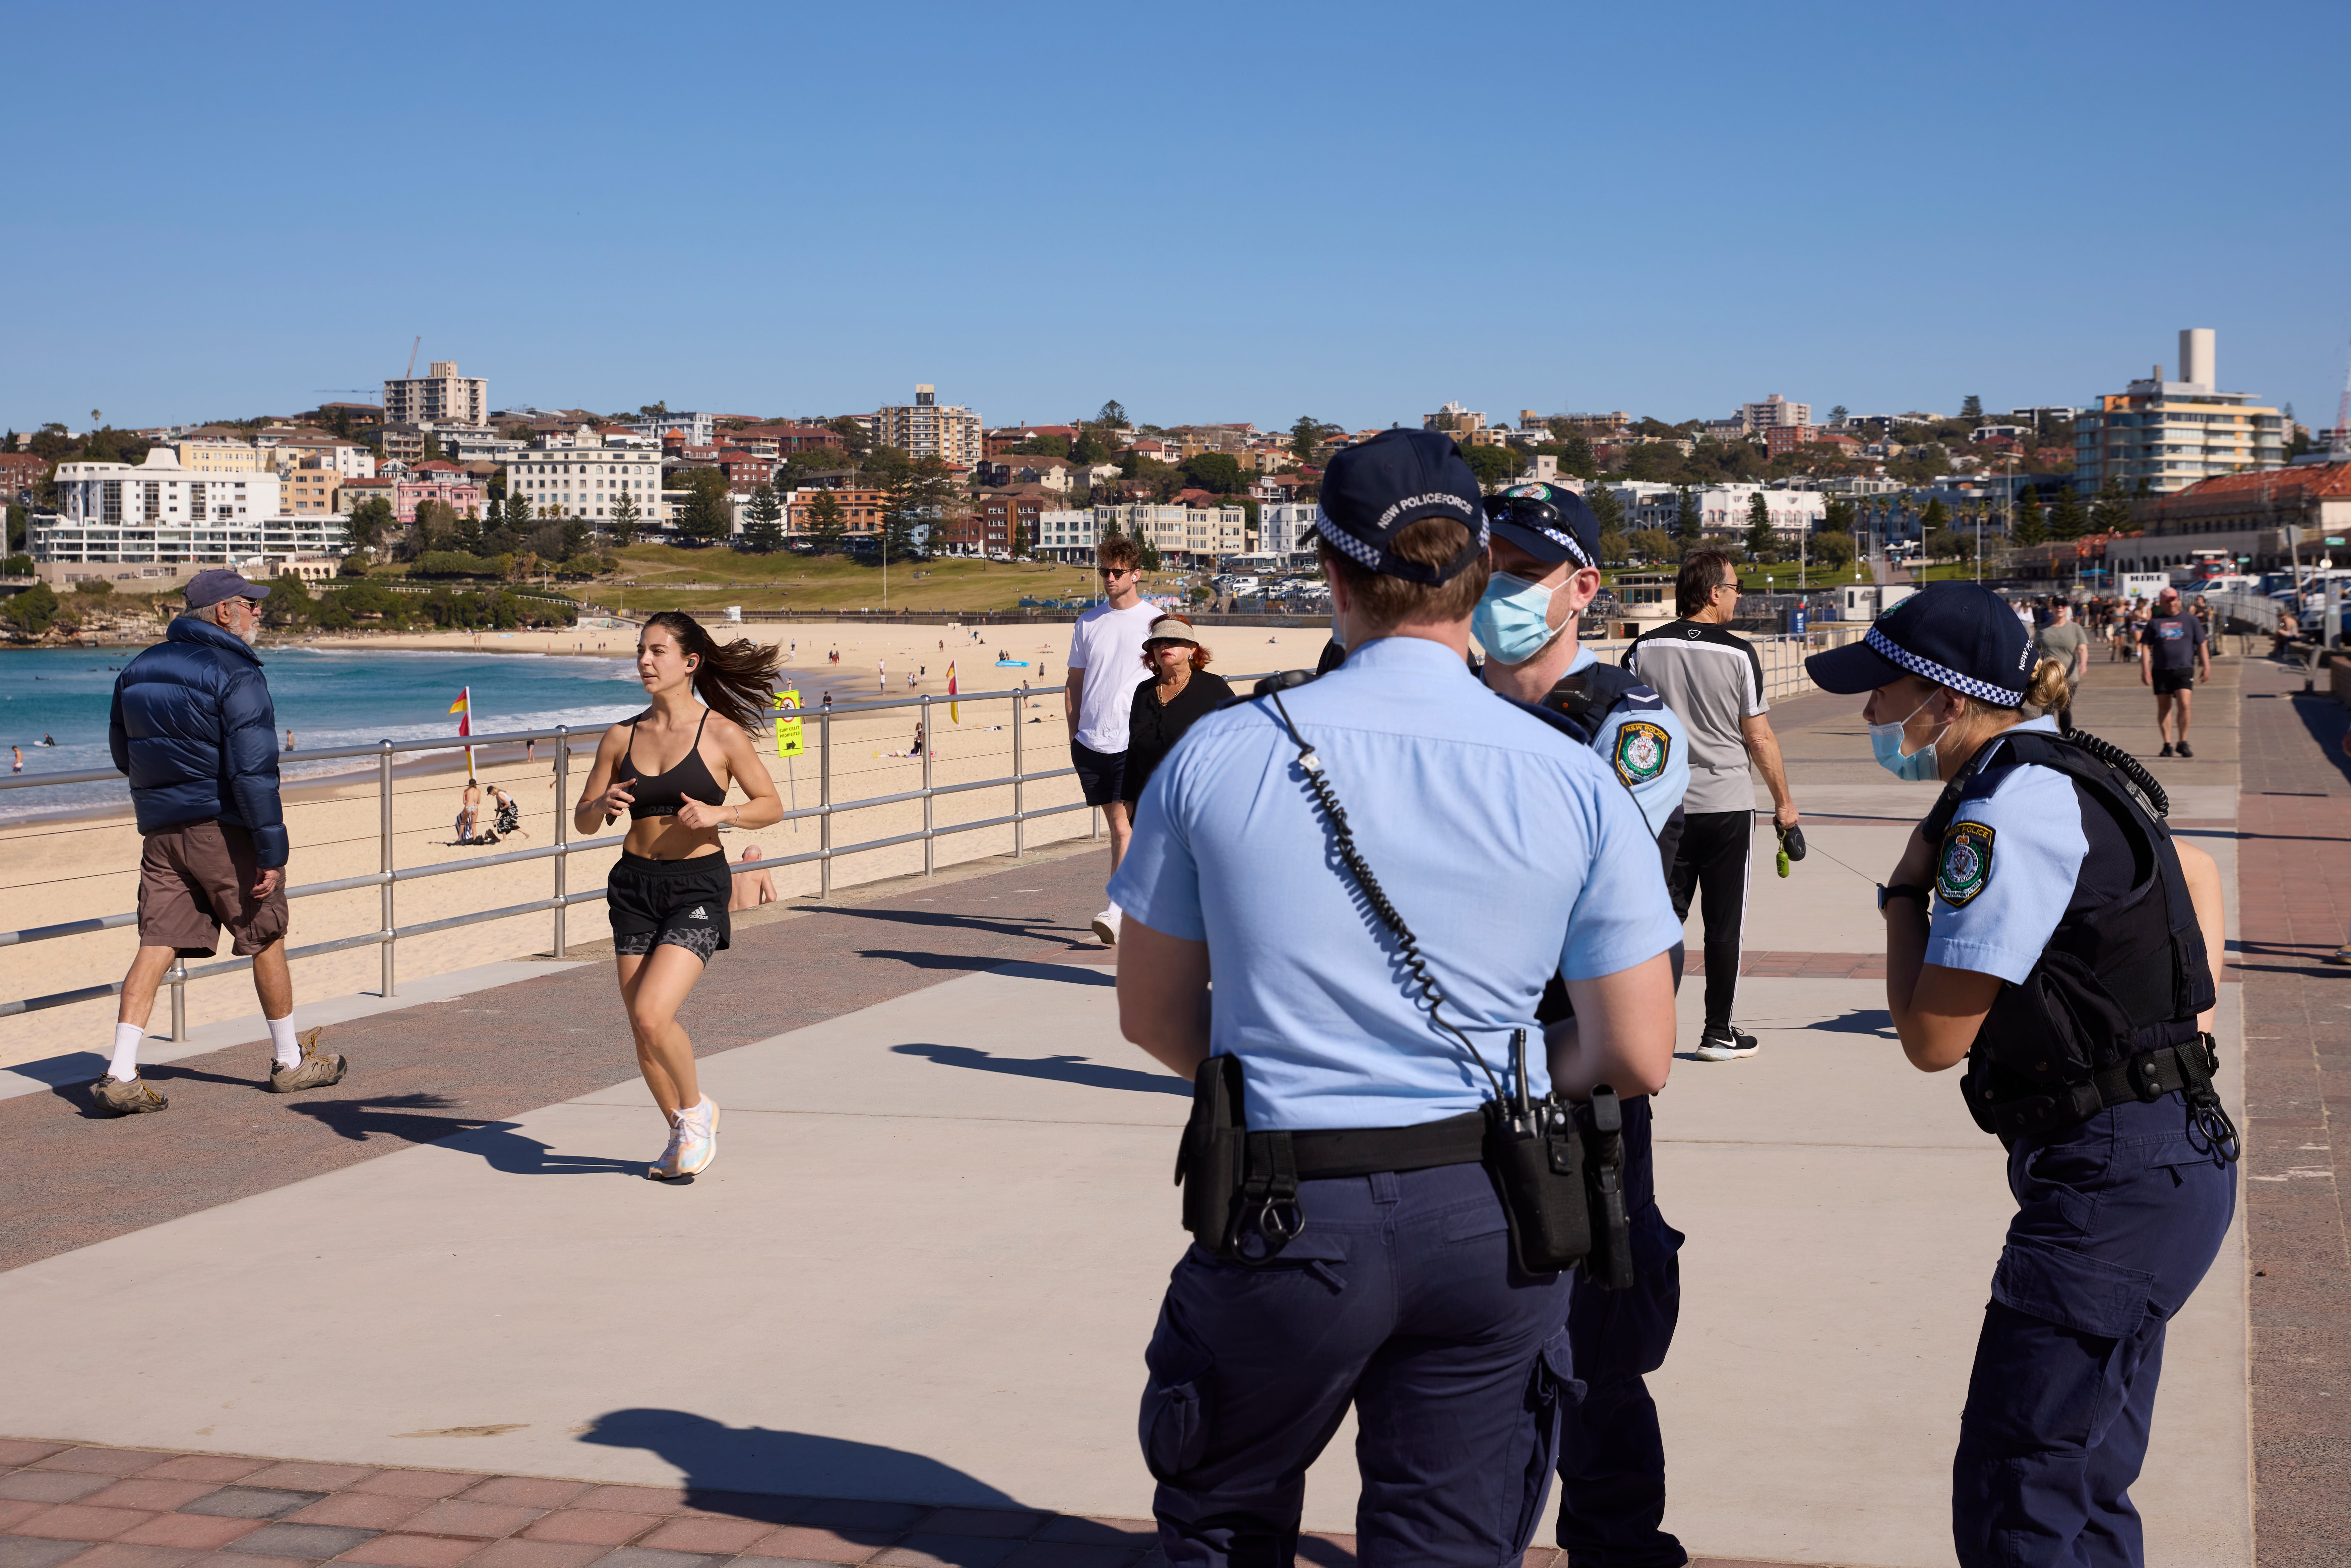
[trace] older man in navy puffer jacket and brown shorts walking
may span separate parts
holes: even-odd
[[[294,1034],[287,969],[287,825],[277,804],[277,710],[252,639],[268,588],[235,571],[197,571],[188,614],[122,665],[108,738],[139,811],[139,957],[122,978],[122,1011],[99,1105],[125,1117],[169,1100],[139,1077],[155,987],[176,957],[212,957],[228,926],[254,961],[270,1025],[270,1088],[324,1088],[343,1058],[317,1048],[324,1030]]]

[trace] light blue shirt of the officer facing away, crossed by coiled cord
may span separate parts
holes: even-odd
[[[1549,1091],[1535,1001],[1681,940],[1641,811],[1589,748],[1491,693],[1460,654],[1380,637],[1281,693],[1347,825],[1446,994],[1509,1081]],[[1486,1074],[1429,1023],[1396,938],[1338,860],[1270,698],[1199,719],[1143,788],[1110,896],[1208,943],[1211,1051],[1239,1056],[1248,1124],[1418,1126],[1474,1112]]]

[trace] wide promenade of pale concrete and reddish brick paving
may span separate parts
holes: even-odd
[[[2151,1563],[2299,1568],[2351,1556],[2351,971],[2316,964],[2351,917],[2351,783],[2299,672],[2217,675],[2198,757],[2151,766],[2243,929],[2222,1086],[2248,1180],[2135,1495]],[[1709,1563],[1951,1561],[2010,1201],[1954,1079],[1890,1037],[1869,882],[1933,792],[1869,764],[1855,708],[1775,715],[1815,853],[1782,882],[1756,846],[1763,1051],[1681,1060],[1657,1103],[1690,1237],[1653,1380],[1667,1526]],[[2154,750],[2135,668],[2095,663],[2076,722]],[[1103,867],[1070,846],[745,922],[686,1013],[724,1124],[682,1187],[637,1178],[658,1117],[595,950],[329,1004],[353,1077],[324,1095],[259,1091],[233,1025],[153,1072],[162,1117],[96,1119],[28,1065],[0,1098],[0,1568],[1143,1559],[1187,1086],[1117,1037],[1084,929]],[[1695,983],[1681,1013],[1693,1041]],[[1352,1561],[1352,1505],[1342,1432],[1307,1561]]]

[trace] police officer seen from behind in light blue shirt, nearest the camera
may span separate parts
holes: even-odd
[[[1248,1143],[1293,1178],[1253,1255],[1176,1265],[1143,1455],[1168,1563],[1288,1563],[1354,1406],[1364,1561],[1495,1568],[1580,1389],[1573,1274],[1516,1267],[1481,1107],[1521,1070],[1533,1095],[1655,1091],[1681,929],[1615,776],[1469,672],[1486,527],[1451,437],[1335,456],[1317,529],[1347,663],[1194,724],[1110,884],[1119,1027],[1201,1084],[1237,1067]],[[1554,971],[1575,1027],[1514,1051]]]

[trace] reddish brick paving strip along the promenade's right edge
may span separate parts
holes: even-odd
[[[2344,710],[2243,665],[2236,971],[2245,983],[2245,1227],[2259,1568],[2351,1563],[2351,924]]]

